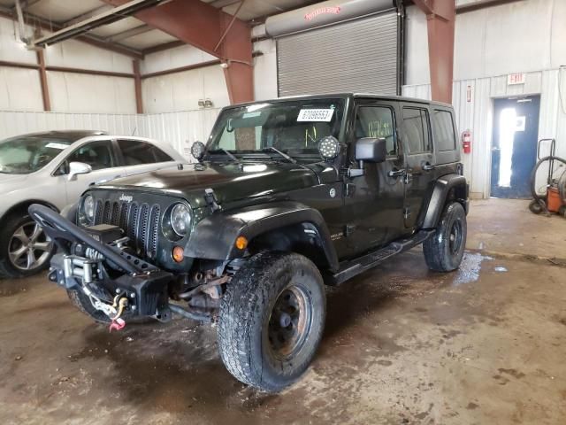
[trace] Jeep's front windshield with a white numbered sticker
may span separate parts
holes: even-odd
[[[218,117],[207,156],[318,160],[318,142],[340,136],[344,99],[303,99],[229,108]],[[279,151],[279,152],[278,152]],[[288,159],[288,158],[287,158]]]

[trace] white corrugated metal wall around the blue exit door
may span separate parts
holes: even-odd
[[[473,137],[470,155],[462,157],[475,197],[490,195],[493,99],[520,95],[540,95],[539,139],[555,138],[557,155],[566,156],[566,69],[527,73],[525,83],[517,85],[508,85],[507,75],[454,81],[452,103],[458,128],[461,133],[470,129]],[[430,99],[430,85],[404,86],[403,96]],[[541,170],[537,185],[543,184]]]

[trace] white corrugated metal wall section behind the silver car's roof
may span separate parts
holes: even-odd
[[[96,129],[170,143],[190,159],[191,143],[206,142],[219,109],[136,114],[0,111],[0,139],[49,130]]]

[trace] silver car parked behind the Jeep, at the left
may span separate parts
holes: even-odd
[[[27,215],[61,211],[91,184],[185,163],[168,144],[100,131],[52,131],[0,141],[0,277],[34,274],[54,251]]]

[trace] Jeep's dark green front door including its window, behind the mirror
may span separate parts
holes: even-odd
[[[356,167],[356,141],[385,138],[387,158],[379,164],[364,162],[363,175],[347,178],[345,210],[349,253],[357,255],[402,236],[404,182],[390,174],[403,169],[397,141],[395,104],[371,99],[356,103],[356,119],[349,137],[350,165]]]

